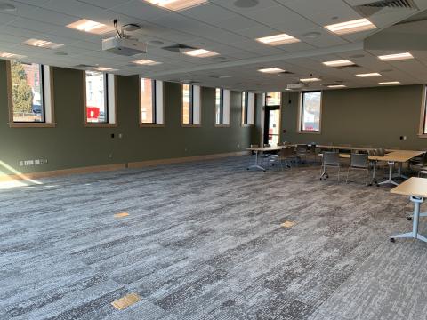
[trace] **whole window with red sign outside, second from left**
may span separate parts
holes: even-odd
[[[116,77],[85,71],[85,126],[116,126]]]

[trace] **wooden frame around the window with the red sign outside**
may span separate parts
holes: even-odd
[[[89,70],[90,71],[90,70]],[[83,124],[87,128],[115,128],[117,127],[117,76],[114,76],[114,119],[110,119],[109,110],[109,74],[100,72],[104,76],[104,103],[106,122],[92,123],[87,121],[87,97],[86,97],[86,70],[83,71]],[[110,120],[114,122],[110,122]]]

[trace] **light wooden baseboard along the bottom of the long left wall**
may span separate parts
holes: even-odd
[[[81,167],[81,168],[54,170],[54,171],[48,171],[48,172],[0,174],[0,182],[14,181],[14,180],[35,180],[40,178],[56,177],[56,176],[69,175],[69,174],[115,171],[115,170],[126,169],[126,168],[135,169],[135,168],[142,168],[142,167],[155,166],[155,165],[161,165],[161,164],[180,164],[180,163],[186,163],[186,162],[192,162],[192,161],[221,159],[229,156],[245,156],[248,154],[249,154],[248,151],[238,151],[238,152],[229,152],[229,153],[214,154],[214,155],[205,155],[205,156],[186,156],[186,157],[170,158],[170,159],[147,160],[147,161],[140,161],[140,162],[132,162],[129,164],[94,165],[94,166]]]

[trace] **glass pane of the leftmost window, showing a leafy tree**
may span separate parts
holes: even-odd
[[[11,61],[13,122],[44,122],[42,69],[36,63]]]

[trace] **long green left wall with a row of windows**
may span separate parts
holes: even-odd
[[[44,172],[243,151],[250,144],[252,128],[240,125],[240,92],[231,92],[230,128],[214,127],[213,88],[202,88],[202,127],[183,128],[181,84],[165,83],[165,127],[140,128],[138,76],[118,76],[117,128],[85,128],[82,81],[82,71],[53,68],[56,127],[10,128],[5,61],[0,60],[0,160],[19,172]],[[19,166],[20,160],[42,158],[48,163]],[[4,167],[0,172],[11,173]]]

